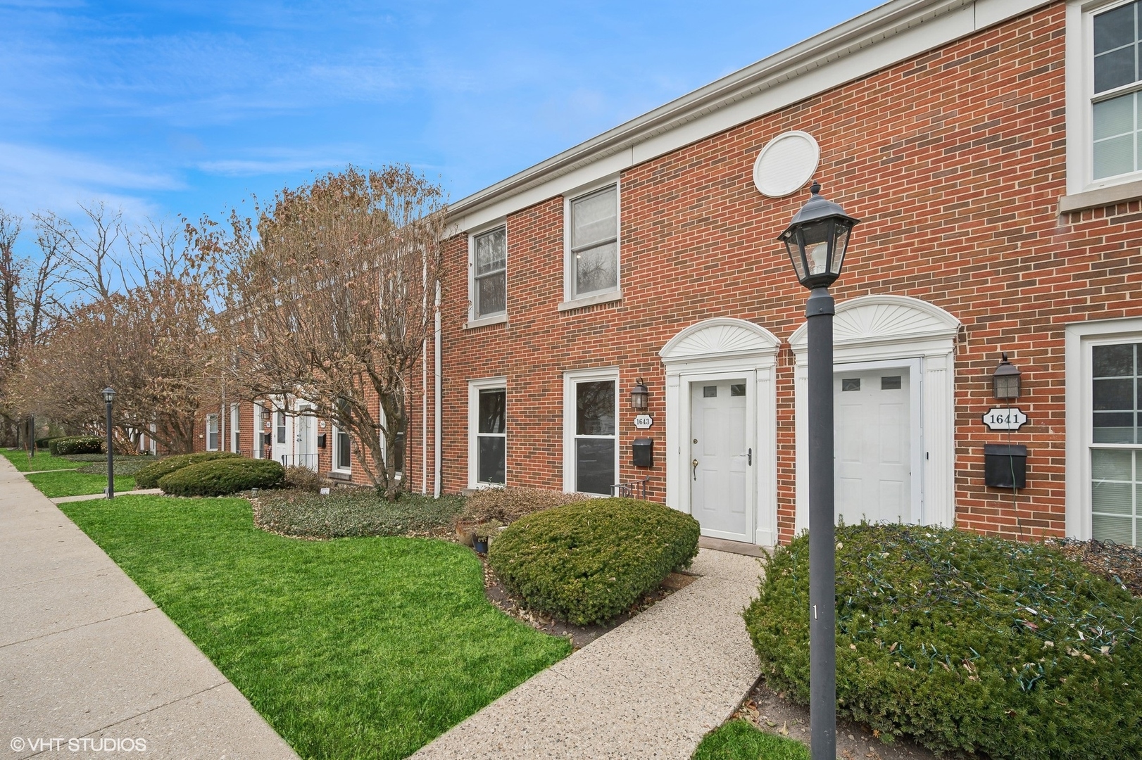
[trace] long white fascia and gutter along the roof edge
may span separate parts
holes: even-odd
[[[893,0],[451,207],[465,231],[827,92],[1052,0]]]

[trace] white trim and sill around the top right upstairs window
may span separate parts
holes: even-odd
[[[1094,15],[1128,2],[1133,0],[1067,3],[1067,196],[1061,212],[1142,197],[1142,170],[1094,179]]]

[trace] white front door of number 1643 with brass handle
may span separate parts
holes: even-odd
[[[690,507],[702,535],[754,541],[753,436],[745,378],[690,383]]]

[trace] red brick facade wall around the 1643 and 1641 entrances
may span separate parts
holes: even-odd
[[[1064,326],[1142,315],[1139,203],[1055,212],[1065,193],[1063,16],[1062,3],[1037,10],[622,172],[621,304],[556,309],[562,197],[507,219],[508,324],[463,329],[467,242],[449,241],[444,490],[467,486],[469,379],[508,378],[508,484],[560,488],[563,372],[618,366],[624,409],[642,375],[650,413],[665,420],[658,350],[694,322],[731,316],[782,340],[778,516],[782,540],[791,535],[786,341],[804,320],[806,292],[774,238],[806,194],[766,199],[751,168],[770,139],[801,129],[821,145],[823,195],[862,220],[831,289],[838,302],[909,296],[964,324],[955,375],[958,524],[1014,537],[1062,534]],[[979,421],[994,403],[1000,350],[1023,371],[1020,407],[1031,420],[1013,436],[1030,448],[1029,487],[1014,503],[1010,491],[982,483],[983,444],[1006,440]],[[630,440],[643,435],[630,418],[621,415],[619,431],[624,480],[644,472],[628,466]],[[661,452],[664,428],[656,422],[651,432]],[[651,472],[656,499],[664,498],[662,460]]]

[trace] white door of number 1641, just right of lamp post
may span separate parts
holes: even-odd
[[[914,523],[909,367],[834,374],[836,510],[846,525]]]

